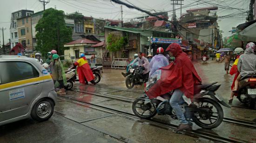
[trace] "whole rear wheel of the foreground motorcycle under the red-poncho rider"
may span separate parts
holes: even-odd
[[[218,102],[209,98],[200,98],[198,104],[199,110],[192,115],[195,124],[204,129],[213,129],[222,123],[223,110]]]

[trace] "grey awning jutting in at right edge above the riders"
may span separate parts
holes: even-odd
[[[243,31],[240,31],[238,33],[239,39],[242,41],[247,42],[256,42],[256,23],[249,25],[247,28],[245,28]]]

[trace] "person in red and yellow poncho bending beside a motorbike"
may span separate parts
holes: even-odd
[[[95,84],[94,82],[94,74],[88,64],[88,61],[84,54],[81,54],[81,58],[74,63],[77,67],[77,74],[79,77],[80,83],[88,83],[91,82],[92,84]]]

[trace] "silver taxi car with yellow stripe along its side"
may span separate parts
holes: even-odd
[[[0,56],[0,125],[32,117],[39,122],[54,112],[57,94],[51,75],[26,56]]]

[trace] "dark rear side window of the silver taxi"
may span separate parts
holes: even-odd
[[[0,62],[0,67],[0,84],[39,77],[38,71],[27,62]]]

